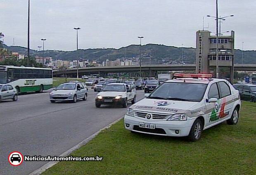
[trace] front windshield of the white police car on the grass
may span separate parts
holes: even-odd
[[[204,96],[206,87],[207,84],[199,83],[163,83],[147,98],[199,102]]]

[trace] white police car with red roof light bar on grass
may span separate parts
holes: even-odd
[[[241,101],[238,90],[211,74],[174,74],[147,98],[128,108],[125,128],[162,136],[188,136],[196,141],[204,129],[227,121],[237,124]]]

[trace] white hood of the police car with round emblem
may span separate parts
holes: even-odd
[[[199,108],[200,102],[194,101],[175,101],[160,99],[142,99],[130,106],[135,111],[162,112],[162,113],[191,113],[192,110]]]

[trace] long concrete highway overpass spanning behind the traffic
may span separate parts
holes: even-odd
[[[149,72],[154,76],[156,71],[195,71],[196,64],[152,64],[142,66],[142,71]],[[256,71],[256,64],[235,64],[235,71]],[[140,66],[105,66],[105,67],[81,67],[79,68],[79,77],[89,74],[115,73],[115,72],[137,72]],[[67,74],[68,77],[76,77],[76,68],[65,70],[54,70],[55,77]]]

